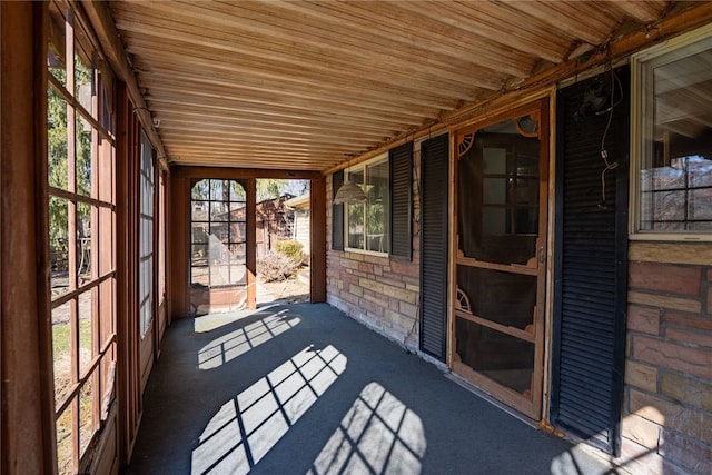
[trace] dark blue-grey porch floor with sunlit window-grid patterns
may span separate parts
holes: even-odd
[[[614,474],[326,304],[175,321],[126,474]]]

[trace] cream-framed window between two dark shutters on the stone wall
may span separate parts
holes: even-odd
[[[345,172],[345,180],[359,186],[366,195],[364,202],[345,205],[346,248],[387,255],[390,243],[388,155],[349,168]]]

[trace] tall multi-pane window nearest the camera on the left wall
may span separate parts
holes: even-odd
[[[59,473],[78,473],[108,415],[116,374],[111,78],[95,68],[71,12],[58,3],[49,12],[51,28],[63,32],[49,34],[47,88],[57,458]]]

